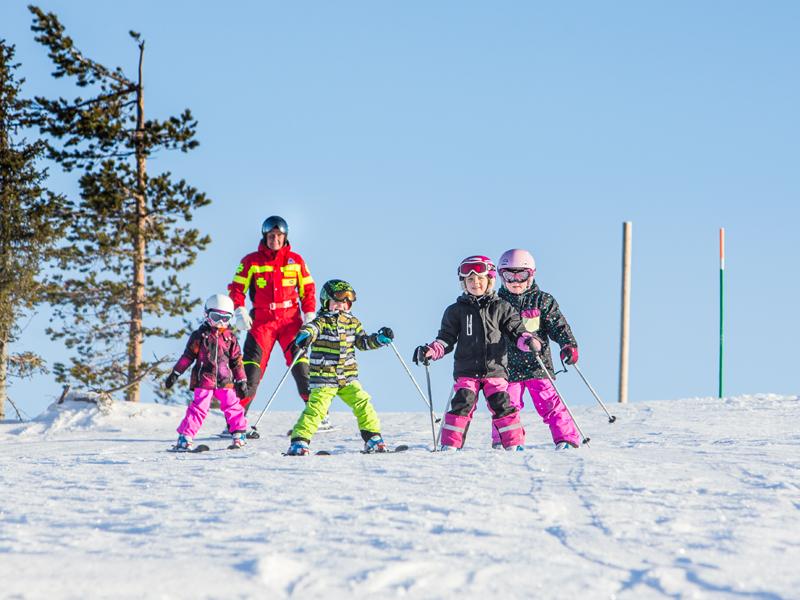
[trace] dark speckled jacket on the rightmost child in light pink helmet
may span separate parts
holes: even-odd
[[[550,340],[555,341],[562,348],[578,345],[575,336],[572,335],[569,323],[558,308],[556,299],[540,290],[535,281],[522,294],[512,294],[503,287],[498,292],[498,296],[516,309],[522,317],[525,328],[541,340],[542,362],[550,375],[555,377],[553,358],[550,356]],[[522,352],[514,344],[508,345],[508,371],[509,381],[547,378],[539,363],[536,362],[536,355],[532,352]]]

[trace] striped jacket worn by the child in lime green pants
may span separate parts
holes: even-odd
[[[300,331],[311,334],[309,387],[343,387],[358,379],[356,348],[380,348],[378,334],[367,335],[349,312],[321,311]]]

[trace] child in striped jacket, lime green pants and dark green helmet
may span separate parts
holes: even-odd
[[[309,355],[309,388],[305,410],[292,429],[292,443],[286,454],[309,454],[308,445],[317,432],[331,402],[339,396],[358,419],[365,452],[386,452],[380,434],[380,420],[370,402],[370,395],[358,381],[355,349],[374,350],[392,342],[388,327],[367,335],[361,321],[350,313],[355,302],[353,287],[341,279],[325,283],[320,293],[322,310],[295,337],[297,349],[311,347]]]

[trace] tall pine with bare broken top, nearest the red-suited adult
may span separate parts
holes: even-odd
[[[185,315],[199,302],[177,273],[210,241],[185,227],[210,200],[169,172],[147,173],[154,153],[197,146],[197,122],[188,109],[164,121],[145,119],[145,44],[138,33],[130,32],[139,65],[132,79],[85,57],[54,14],[29,9],[35,39],[56,66],[53,76],[92,91],[71,101],[36,98],[48,116],[41,130],[53,140],[49,156],[81,173],[81,202],[67,238],[72,251],[50,297],[58,323],[48,330],[77,356],[69,366],[55,365],[56,378],[94,389],[127,384],[126,398],[135,402],[139,379],[155,366],[142,357],[145,340],[184,335],[185,328],[159,325],[160,318]]]

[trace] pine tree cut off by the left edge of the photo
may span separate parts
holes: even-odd
[[[34,352],[10,352],[19,338],[19,321],[42,301],[39,276],[57,257],[54,245],[61,236],[70,205],[42,187],[47,173],[37,168],[45,152],[41,141],[21,137],[36,126],[32,102],[21,94],[24,79],[16,79],[14,46],[0,39],[0,419],[5,418],[10,376],[42,370]]]

